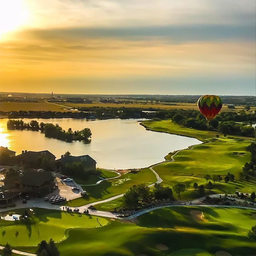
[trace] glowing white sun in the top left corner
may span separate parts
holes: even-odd
[[[27,17],[23,0],[0,0],[0,38],[24,25]]]

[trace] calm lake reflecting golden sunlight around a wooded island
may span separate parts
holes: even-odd
[[[32,119],[23,119],[30,122]],[[142,119],[35,119],[40,122],[58,123],[64,130],[82,130],[90,128],[92,141],[64,142],[46,138],[40,132],[30,130],[12,130],[6,128],[8,119],[0,119],[0,146],[21,154],[22,150],[49,150],[60,158],[66,151],[73,156],[90,155],[97,162],[97,167],[107,169],[128,169],[148,167],[164,161],[164,156],[174,150],[200,144],[195,138],[188,138],[161,132],[146,130],[139,124]]]

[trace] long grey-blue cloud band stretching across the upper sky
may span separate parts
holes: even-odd
[[[74,42],[77,40],[119,38],[122,40],[155,40],[163,38],[170,44],[197,41],[254,41],[256,26],[252,25],[186,25],[115,28],[52,28],[20,32],[22,36],[39,40]]]

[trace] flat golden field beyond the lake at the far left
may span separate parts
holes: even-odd
[[[64,112],[64,106],[48,102],[0,102],[0,111],[60,111]]]

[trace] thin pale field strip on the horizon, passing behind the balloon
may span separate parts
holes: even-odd
[[[92,104],[84,104],[84,103],[63,103],[62,105],[68,106],[68,107],[104,107],[104,108],[159,108],[159,109],[197,109],[197,104],[196,103],[173,103],[173,104],[168,104],[168,103],[148,103],[148,104],[143,104],[143,103],[133,103],[133,104],[115,104],[115,103],[99,103],[99,102],[93,102]],[[228,109],[228,105],[224,104],[222,107],[222,110],[225,111],[238,111],[244,109],[244,106],[236,106],[236,109]],[[251,108],[252,110],[255,109],[255,107]]]

